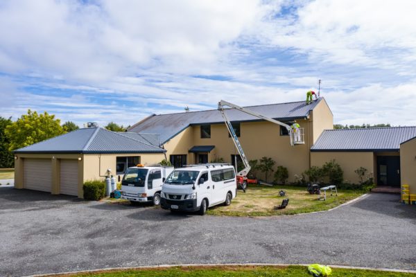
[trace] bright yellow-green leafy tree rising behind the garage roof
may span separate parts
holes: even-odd
[[[55,115],[37,114],[28,109],[28,114],[22,115],[6,127],[6,136],[10,140],[9,150],[13,151],[33,143],[38,143],[54,136],[66,133]]]

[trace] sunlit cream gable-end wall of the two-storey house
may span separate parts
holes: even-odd
[[[333,115],[327,101],[320,100],[319,104],[311,111],[313,126],[312,145],[318,140],[325,129],[333,129]]]

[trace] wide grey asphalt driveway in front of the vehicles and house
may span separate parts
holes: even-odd
[[[0,276],[233,262],[416,269],[416,206],[398,201],[372,194],[325,213],[201,217],[0,186]]]

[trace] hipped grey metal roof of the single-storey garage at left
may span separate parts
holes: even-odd
[[[15,153],[163,153],[150,143],[132,139],[101,127],[77,129],[33,145]]]

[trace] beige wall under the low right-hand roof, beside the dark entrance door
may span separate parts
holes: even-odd
[[[354,172],[361,166],[374,177],[373,152],[311,152],[311,166],[322,166],[327,161],[335,159],[344,170],[344,181],[359,183],[358,175]]]

